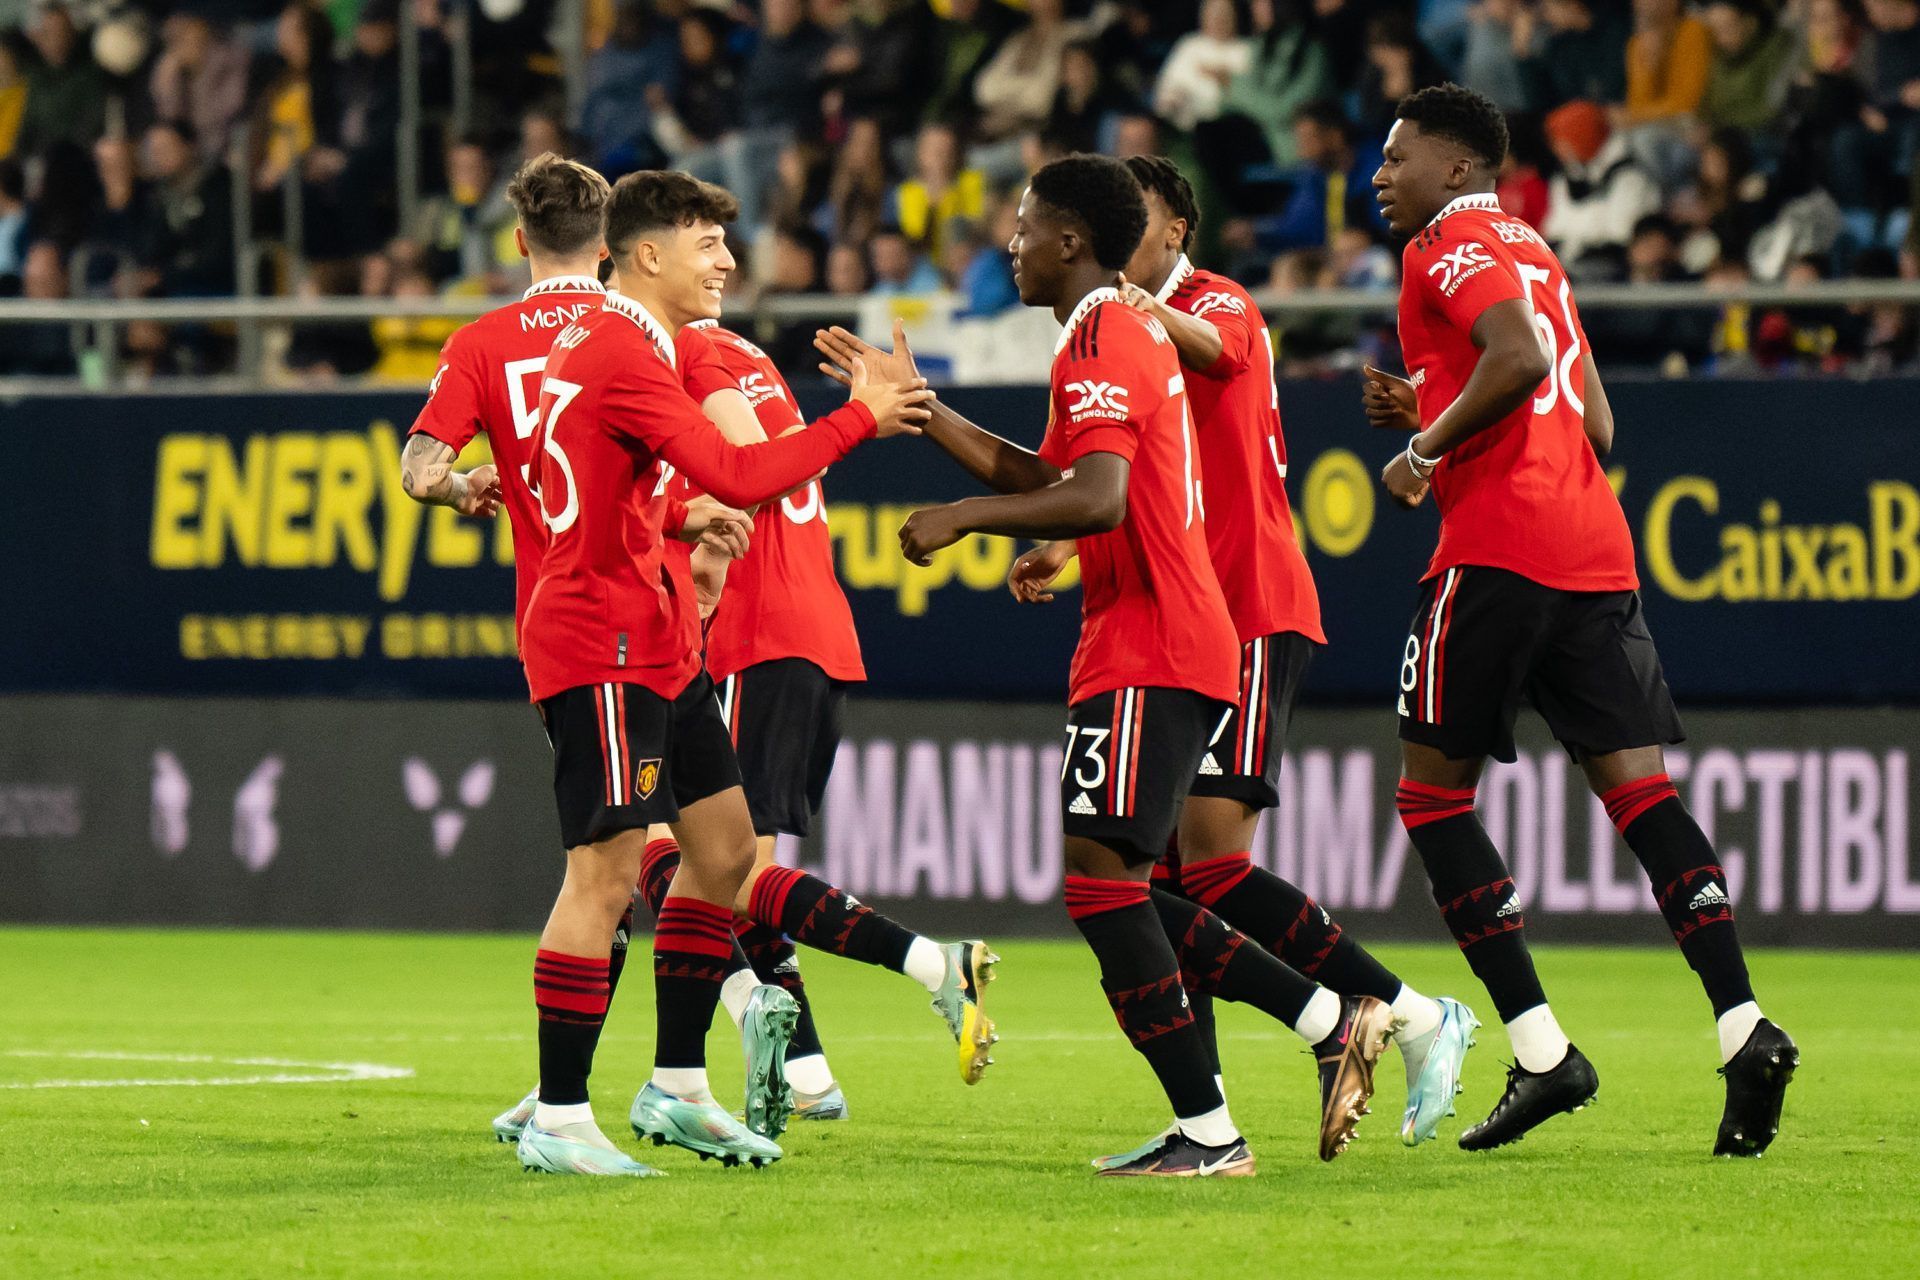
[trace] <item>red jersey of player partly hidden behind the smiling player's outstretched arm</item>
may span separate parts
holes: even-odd
[[[768,439],[806,426],[766,351],[708,320],[691,328],[705,330],[730,374],[728,386],[747,395]],[[697,489],[676,476],[670,493],[685,501]],[[726,593],[707,628],[707,670],[714,679],[776,658],[804,658],[833,679],[866,679],[852,608],[833,574],[833,537],[818,480],[760,510],[753,547],[728,568]]]

